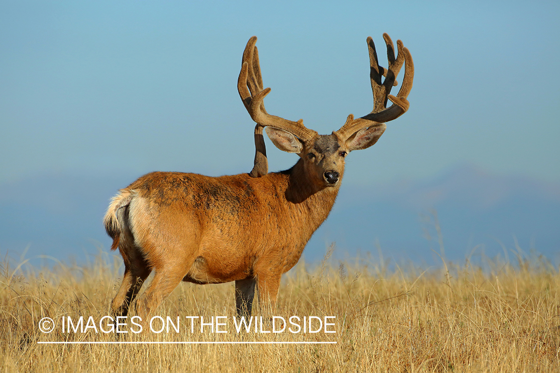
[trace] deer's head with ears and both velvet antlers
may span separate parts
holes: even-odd
[[[290,121],[270,115],[264,108],[264,97],[270,88],[263,89],[260,73],[256,36],[249,39],[243,53],[237,89],[255,127],[255,163],[250,175],[260,177],[268,172],[268,162],[263,139],[263,128],[276,147],[284,152],[297,153],[304,162],[310,181],[318,188],[338,187],[344,174],[344,158],[352,150],[366,149],[374,145],[386,129],[385,122],[396,119],[408,110],[407,100],[414,77],[412,56],[402,41],[398,40],[398,56],[395,58],[393,41],[383,34],[387,45],[389,68],[379,65],[374,41],[367,38],[370,53],[370,80],[374,94],[374,108],[365,116],[354,119],[350,114],[346,123],[330,135],[319,135],[304,126],[303,120]],[[398,95],[390,95],[396,86],[396,76],[403,63],[404,79]],[[381,77],[385,80],[381,82]],[[390,100],[393,105],[387,106]]]

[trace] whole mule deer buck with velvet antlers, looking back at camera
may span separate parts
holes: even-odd
[[[155,276],[137,301],[144,318],[181,281],[220,284],[235,281],[237,314],[249,316],[258,289],[259,304],[274,308],[283,273],[300,259],[311,235],[329,216],[352,150],[374,145],[384,122],[408,110],[414,65],[408,49],[383,35],[389,68],[380,67],[375,45],[367,38],[374,109],[330,135],[307,129],[303,121],[270,115],[263,99],[258,51],[253,36],[245,48],[237,88],[256,122],[255,160],[251,173],[208,177],[194,173],[152,172],[120,190],[104,218],[119,248],[124,277],[113,303],[116,315],[127,315],[144,280]],[[390,95],[405,65],[398,95]],[[381,78],[385,77],[381,82]],[[393,105],[387,106],[390,100]],[[268,173],[263,129],[276,147],[300,159],[290,169]]]

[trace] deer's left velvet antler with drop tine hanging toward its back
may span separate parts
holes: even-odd
[[[309,140],[317,133],[306,128],[303,120],[297,122],[270,115],[264,108],[264,97],[270,88],[263,89],[263,79],[260,72],[259,54],[256,49],[256,36],[251,37],[245,46],[241,64],[241,72],[237,79],[237,90],[251,119],[256,122],[255,127],[255,166],[251,176],[258,177],[268,172],[268,162],[263,139],[263,128],[270,126],[297,136],[301,140]]]

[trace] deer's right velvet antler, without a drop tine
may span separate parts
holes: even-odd
[[[358,119],[354,119],[352,114],[349,115],[346,123],[337,131],[343,138],[349,138],[363,128],[394,120],[408,110],[410,104],[407,97],[410,93],[410,89],[412,89],[412,82],[414,79],[412,56],[410,55],[410,51],[404,48],[403,42],[397,40],[396,46],[398,55],[395,58],[393,41],[388,34],[383,34],[383,39],[387,45],[388,69],[379,65],[374,41],[371,37],[367,38],[367,46],[370,54],[370,79],[371,89],[374,95],[374,109],[370,114]],[[390,95],[390,92],[391,88],[397,85],[396,76],[399,74],[403,64],[405,67],[404,78],[399,93],[395,97]],[[382,76],[385,77],[384,82],[381,82]],[[388,100],[393,102],[393,105],[386,108]]]

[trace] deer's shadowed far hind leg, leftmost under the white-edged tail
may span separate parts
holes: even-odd
[[[124,276],[119,291],[111,303],[111,311],[115,316],[126,316],[130,303],[136,298],[152,270],[137,247],[128,249],[124,246],[119,249],[124,260]]]

